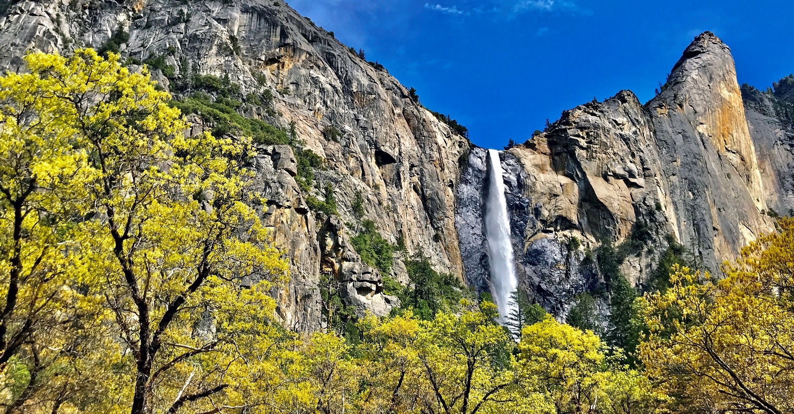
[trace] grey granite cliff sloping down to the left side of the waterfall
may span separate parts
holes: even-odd
[[[281,1],[239,2],[4,2],[0,14],[0,67],[23,69],[29,50],[101,48],[114,34],[129,33],[121,56],[162,57],[153,77],[174,92],[172,82],[193,73],[228,76],[241,94],[274,96],[269,111],[245,109],[283,129],[294,126],[304,148],[324,159],[314,190],[295,180],[295,154],[288,146],[260,148],[252,167],[256,188],[268,198],[262,217],[290,259],[291,282],[279,297],[287,326],[322,326],[320,281],[341,283],[350,305],[385,314],[395,298],[382,293],[378,270],[360,263],[351,247],[360,219],[373,220],[391,243],[407,240],[406,255],[422,247],[437,270],[462,277],[454,224],[458,158],[468,140],[409,98],[405,87],[314,26]],[[117,36],[118,38],[118,36]],[[150,65],[151,66],[151,65]],[[173,73],[164,73],[173,72]],[[270,115],[268,115],[270,113]],[[333,127],[338,133],[328,133]],[[322,200],[332,186],[337,217],[312,211],[306,197]],[[396,263],[389,276],[407,280]]]

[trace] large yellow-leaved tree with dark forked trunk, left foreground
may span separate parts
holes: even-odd
[[[16,120],[40,120],[30,125],[44,163],[30,164],[33,174],[21,175],[14,190],[29,197],[33,186],[64,183],[51,196],[63,205],[44,218],[64,224],[56,235],[72,248],[53,260],[67,260],[61,268],[79,274],[75,288],[112,316],[114,338],[129,349],[119,363],[133,374],[131,411],[256,404],[241,393],[262,385],[252,378],[267,369],[266,345],[283,338],[271,323],[275,301],[264,292],[286,277],[287,267],[246,204],[257,202],[246,190],[250,139],[185,136],[171,96],[156,90],[147,72],[129,73],[112,53],[33,54],[26,62],[30,73],[7,76],[4,89],[21,90],[16,102],[25,112]],[[2,182],[10,188],[14,180]],[[34,236],[37,243],[52,238]],[[40,263],[53,254],[34,251]],[[15,263],[16,253],[10,256]],[[252,275],[260,282],[245,287]],[[70,285],[57,282],[58,290]]]

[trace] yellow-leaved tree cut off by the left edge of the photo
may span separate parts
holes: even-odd
[[[35,75],[0,78],[0,366],[34,331],[57,324],[50,316],[68,301],[60,289],[73,277],[74,255],[58,247],[67,224],[52,217],[75,210],[88,154],[64,151],[75,129],[64,122],[68,110],[44,98],[56,86]]]

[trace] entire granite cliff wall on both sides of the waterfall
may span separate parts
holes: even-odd
[[[273,292],[288,327],[326,327],[325,284],[360,316],[398,303],[383,278],[407,282],[405,266],[400,255],[390,274],[361,262],[351,240],[362,220],[390,243],[405,240],[403,257],[421,248],[436,270],[488,289],[487,151],[283,2],[2,2],[0,44],[7,70],[24,70],[30,50],[115,45],[133,68],[158,62],[153,78],[177,96],[185,79],[214,75],[241,96],[272,97],[238,111],[293,131],[323,159],[309,190],[291,146],[260,145],[251,165],[253,190],[267,199],[261,217],[291,263],[289,286]],[[196,131],[212,127],[193,121]],[[716,270],[773,229],[769,212],[794,209],[792,125],[794,79],[768,93],[740,89],[730,49],[711,33],[645,105],[621,91],[566,111],[501,154],[519,286],[565,315],[576,294],[603,289],[596,247],[637,241],[622,266],[640,284],[668,235]],[[326,188],[335,214],[312,207]]]

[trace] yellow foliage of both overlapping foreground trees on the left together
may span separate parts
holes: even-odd
[[[246,204],[250,140],[186,136],[171,97],[113,53],[25,60],[28,74],[0,81],[2,143],[18,155],[0,167],[3,211],[14,217],[3,220],[12,243],[0,265],[10,309],[0,351],[14,357],[2,381],[19,390],[9,404],[146,413],[260,404],[269,350],[285,338],[265,292],[287,264]],[[36,205],[25,213],[27,201]],[[22,233],[25,220],[45,225]],[[67,247],[48,247],[58,238]],[[242,289],[255,270],[260,282]],[[56,329],[40,331],[48,320]],[[37,340],[12,349],[33,339],[34,323]]]

